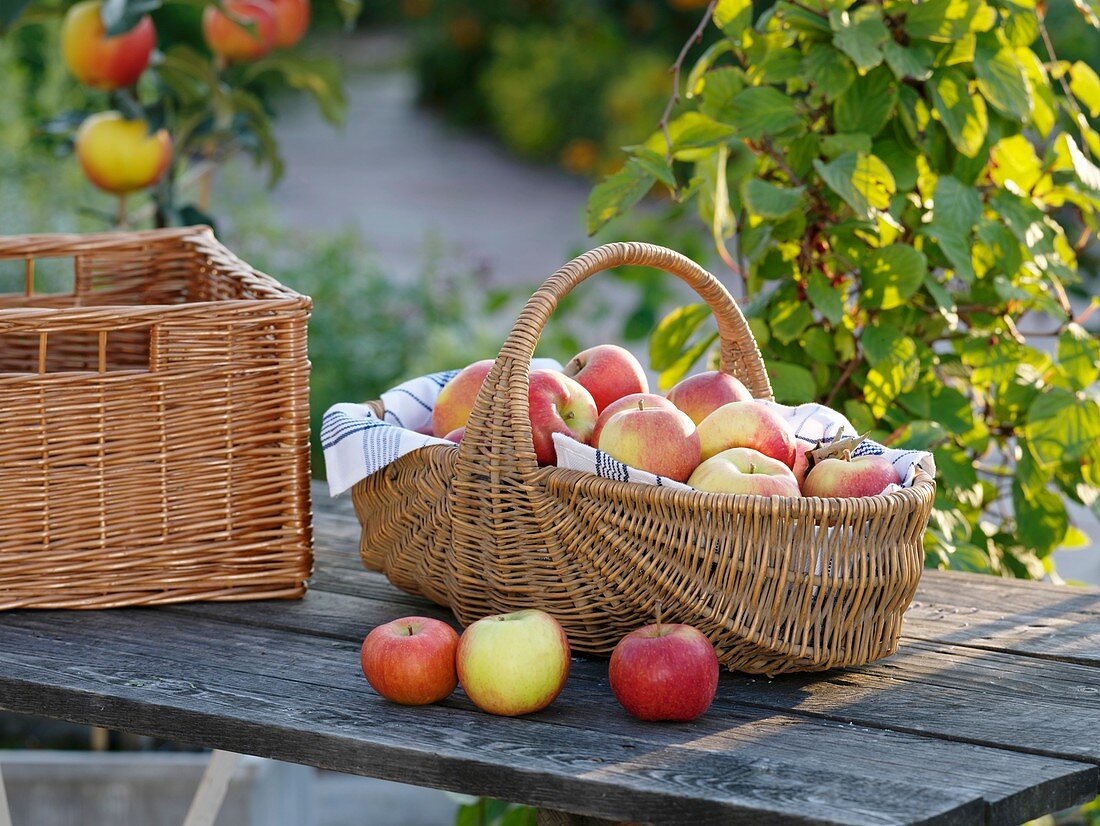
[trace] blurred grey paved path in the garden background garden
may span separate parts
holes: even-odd
[[[585,181],[520,163],[418,109],[416,81],[397,66],[398,41],[342,43],[342,57],[359,66],[346,125],[333,130],[308,102],[278,120],[287,170],[272,200],[285,220],[328,232],[358,228],[402,279],[424,263],[426,242],[497,284],[525,286],[585,244]],[[1058,571],[1100,584],[1100,524],[1085,508],[1071,513],[1093,546],[1059,552]]]

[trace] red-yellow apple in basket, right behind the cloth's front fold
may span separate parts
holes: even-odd
[[[612,416],[596,445],[618,461],[686,482],[698,464],[698,433],[688,414],[674,407],[631,407]]]

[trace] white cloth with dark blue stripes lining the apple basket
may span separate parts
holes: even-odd
[[[535,359],[532,370],[561,370],[552,359]],[[391,462],[429,444],[451,444],[443,439],[426,436],[430,430],[431,409],[443,388],[459,371],[414,378],[382,394],[386,415],[380,419],[365,405],[333,405],[324,414],[321,423],[321,448],[324,451],[324,467],[328,474],[329,492],[338,496],[360,480],[382,470]],[[813,444],[818,439],[831,442],[842,434],[855,436],[856,429],[843,415],[824,405],[810,403],[788,407],[774,401],[765,401],[790,422],[796,439]],[[688,485],[656,476],[646,471],[629,467],[612,459],[601,450],[582,444],[575,439],[554,433],[558,451],[558,466],[587,471],[597,476],[639,482],[648,485],[663,485],[691,489]],[[865,440],[854,455],[882,455],[898,471],[902,487],[913,484],[917,469],[935,476],[936,465],[931,453],[916,450],[895,450],[878,442]],[[887,488],[897,489],[891,485]]]

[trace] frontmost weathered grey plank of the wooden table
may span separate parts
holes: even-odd
[[[628,736],[557,725],[546,713],[517,722],[473,711],[461,693],[395,706],[366,687],[353,642],[117,610],[12,613],[0,646],[0,706],[11,711],[578,814],[670,824],[985,817],[967,791],[905,778],[883,784],[821,757],[807,772],[804,760],[777,751],[765,759],[719,749],[694,724],[637,725]],[[556,707],[576,714],[564,696]]]

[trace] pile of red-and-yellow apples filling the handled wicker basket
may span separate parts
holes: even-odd
[[[435,436],[462,440],[492,366],[475,362],[443,387],[432,411]],[[711,493],[854,497],[899,483],[879,456],[842,453],[812,462],[815,445],[795,439],[785,419],[727,373],[689,376],[667,396],[650,393],[641,364],[614,344],[585,350],[564,372],[531,371],[528,407],[539,464],[554,464],[553,433],[564,433],[631,467]]]

